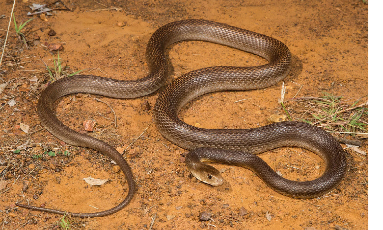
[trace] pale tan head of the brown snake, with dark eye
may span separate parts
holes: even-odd
[[[190,170],[195,178],[203,183],[210,184],[213,186],[219,186],[223,184],[223,178],[219,171],[208,164],[201,163],[194,170]]]

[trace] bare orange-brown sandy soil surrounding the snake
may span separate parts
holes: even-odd
[[[16,202],[97,212],[114,207],[128,192],[123,174],[116,172],[109,158],[67,145],[41,126],[36,105],[50,80],[44,63],[53,67],[53,54],[57,57],[48,49],[50,44],[63,46],[59,57],[66,73],[83,70],[81,74],[137,79],[148,73],[144,53],[157,28],[181,19],[212,20],[272,36],[290,48],[293,67],[284,80],[287,107],[296,104],[289,98],[318,97],[323,92],[368,100],[368,4],[361,0],[64,0],[72,11],[52,11],[47,21],[39,15],[27,16],[32,3],[49,2],[17,1],[18,24],[34,18],[21,30],[28,46],[20,42],[12,23],[0,67],[0,84],[7,83],[0,94],[0,176],[8,183],[0,184],[4,230],[61,229],[56,225],[62,216],[29,211],[16,207]],[[12,4],[0,1],[0,15],[6,16],[0,19],[1,46]],[[63,5],[51,8],[56,7]],[[171,45],[167,55],[172,66],[169,81],[193,69],[267,63],[246,52],[200,41]],[[270,123],[270,115],[285,114],[278,103],[281,86],[282,82],[263,90],[210,93],[189,103],[180,117],[204,128],[263,126]],[[213,164],[226,182],[212,187],[189,176],[181,156],[186,150],[157,131],[153,106],[158,93],[137,99],[79,93],[56,102],[57,116],[64,124],[121,152],[126,149],[124,157],[137,182],[136,195],[123,210],[101,218],[70,218],[71,229],[368,229],[367,139],[360,139],[366,155],[345,149],[344,181],[318,199],[283,196],[251,171],[230,165]],[[86,119],[96,121],[93,132],[84,131]],[[22,130],[26,125],[27,133]],[[46,150],[56,156],[44,154]],[[291,180],[312,180],[325,168],[318,156],[301,148],[280,148],[259,156]],[[94,186],[82,180],[87,177],[109,181]],[[204,217],[208,221],[200,220]]]

